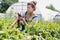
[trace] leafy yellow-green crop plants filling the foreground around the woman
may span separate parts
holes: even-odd
[[[15,19],[0,19],[0,40],[60,40],[60,23],[40,21],[27,25],[25,32],[17,24],[9,29]]]

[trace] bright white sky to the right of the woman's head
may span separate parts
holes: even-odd
[[[33,0],[19,0],[19,2],[22,2],[22,1],[30,2]],[[53,19],[53,17],[58,13],[58,12],[54,12],[49,9],[46,9],[46,6],[49,6],[50,4],[52,4],[56,9],[60,10],[60,5],[59,5],[60,0],[34,0],[34,1],[37,1],[36,6],[40,10],[45,20]]]

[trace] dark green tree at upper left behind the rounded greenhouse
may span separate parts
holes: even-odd
[[[10,5],[18,2],[18,0],[2,0],[0,3],[0,13],[4,13]]]

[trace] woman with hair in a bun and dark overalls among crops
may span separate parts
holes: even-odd
[[[34,14],[35,10],[35,1],[27,3],[27,11],[23,14],[23,17],[18,17],[18,27],[22,26],[22,31],[25,29],[25,26],[28,24],[28,22],[30,22],[30,25],[34,25],[36,22],[38,22],[39,17]]]

